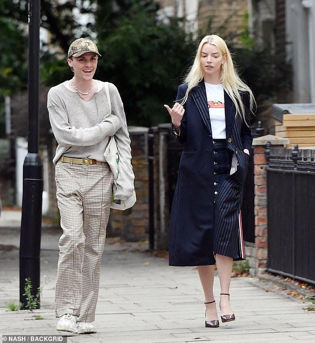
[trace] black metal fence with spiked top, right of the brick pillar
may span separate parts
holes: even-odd
[[[315,284],[315,149],[267,145],[268,265]]]

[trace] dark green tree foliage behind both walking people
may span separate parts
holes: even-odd
[[[27,88],[27,3],[0,0],[0,30],[5,37],[0,41],[0,137],[4,133],[4,96]],[[67,64],[68,47],[76,38],[90,37],[102,54],[95,78],[118,87],[128,124],[152,126],[168,122],[163,104],[172,104],[199,38],[194,40],[185,32],[184,19],[159,21],[157,13],[155,0],[41,0],[41,26],[49,38],[41,42],[42,89],[72,77]],[[228,42],[237,41],[235,36],[227,36],[229,18],[215,30],[211,25],[209,17],[207,32],[218,33]],[[290,84],[290,77],[284,61],[254,46],[246,27],[244,18],[244,32],[238,39],[243,45],[232,43],[229,48],[235,52],[242,78],[263,101],[278,92],[279,80]],[[16,107],[23,106],[25,102]],[[40,122],[47,121],[45,107],[41,107],[40,116]],[[47,123],[43,127],[48,127]]]

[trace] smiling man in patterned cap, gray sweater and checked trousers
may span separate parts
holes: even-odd
[[[91,40],[75,40],[68,53],[74,76],[52,87],[47,99],[58,142],[53,162],[63,229],[55,295],[56,316],[60,317],[56,329],[77,334],[96,332],[92,322],[114,182],[104,157],[110,136],[115,135],[119,152],[115,199],[128,199],[134,192],[123,103],[112,83],[108,99],[104,82],[93,79],[100,56]]]

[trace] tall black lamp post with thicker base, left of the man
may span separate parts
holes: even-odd
[[[23,295],[25,279],[30,278],[33,296],[40,287],[43,193],[43,166],[38,153],[40,0],[29,0],[28,6],[28,153],[23,164],[20,236],[20,302],[23,309],[27,308]],[[40,307],[39,302],[36,307]]]

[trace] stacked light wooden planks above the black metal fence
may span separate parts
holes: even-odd
[[[315,146],[315,114],[283,114],[282,123],[275,121],[275,136],[290,139],[294,146]]]

